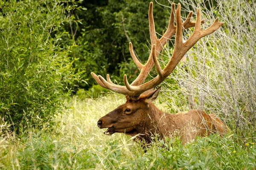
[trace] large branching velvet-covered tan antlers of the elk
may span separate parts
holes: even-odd
[[[148,10],[148,20],[149,20],[149,31],[150,31],[150,39],[151,39],[151,53],[149,55],[148,61],[145,65],[140,63],[140,61],[137,59],[137,57],[134,54],[132,44],[130,42],[130,53],[131,57],[134,60],[137,67],[141,70],[139,76],[131,83],[131,85],[128,83],[127,76],[124,75],[124,82],[125,86],[116,85],[113,82],[111,82],[111,79],[109,78],[109,75],[107,74],[107,81],[102,76],[97,76],[93,72],[91,72],[91,75],[96,80],[96,82],[102,86],[103,88],[107,88],[113,91],[116,91],[117,93],[125,94],[128,96],[139,96],[145,91],[148,91],[151,88],[156,87],[161,82],[163,82],[166,77],[168,77],[172,71],[175,69],[177,64],[180,62],[182,57],[186,54],[187,51],[189,51],[190,48],[192,48],[193,45],[195,45],[198,40],[200,40],[202,37],[212,34],[214,31],[216,31],[218,28],[221,27],[221,25],[224,22],[219,22],[218,18],[214,21],[214,23],[207,29],[201,30],[201,23],[204,23],[203,20],[201,20],[201,12],[200,9],[197,9],[197,20],[196,22],[191,22],[191,17],[193,12],[190,11],[188,17],[186,18],[185,22],[182,24],[181,16],[180,16],[180,3],[178,3],[177,11],[176,11],[176,26],[174,25],[175,20],[175,4],[172,3],[172,11],[171,16],[169,20],[169,25],[166,30],[166,32],[163,34],[163,37],[160,39],[157,38],[155,27],[154,27],[154,18],[153,18],[153,3],[151,2],[149,5]],[[195,26],[195,30],[191,37],[183,43],[183,28],[189,28]],[[160,51],[163,49],[163,46],[166,44],[166,42],[176,33],[175,37],[175,47],[172,54],[172,57],[169,61],[169,63],[166,65],[166,67],[162,70],[158,61],[157,56],[160,54]],[[153,68],[155,65],[157,69],[157,77],[154,79],[151,79],[149,82],[145,82],[142,84],[146,77],[149,74],[149,71]]]

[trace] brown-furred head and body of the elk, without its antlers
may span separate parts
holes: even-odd
[[[158,89],[157,89],[158,90]],[[207,136],[211,133],[227,132],[228,128],[214,114],[207,114],[202,110],[191,110],[177,114],[164,113],[151,102],[156,98],[154,91],[148,96],[141,95],[137,99],[128,96],[125,104],[103,116],[100,128],[107,128],[106,134],[126,133],[151,142],[151,136],[180,136],[183,143],[191,142],[196,136]],[[152,99],[152,101],[154,100]],[[125,109],[129,108],[129,113]]]

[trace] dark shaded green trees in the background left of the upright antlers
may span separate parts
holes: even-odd
[[[87,84],[78,83],[80,88],[88,89],[96,84],[90,76],[91,71],[104,77],[110,74],[113,80],[121,84],[124,73],[128,75],[129,81],[137,77],[140,71],[131,59],[129,42],[133,43],[136,54],[145,63],[150,52],[150,44],[147,42],[150,41],[150,2],[151,0],[84,0],[81,6],[86,7],[87,11],[72,11],[73,16],[82,19],[82,25],[66,25],[66,30],[71,34],[63,39],[62,44],[76,45],[72,56],[79,60],[74,62],[74,67],[85,69],[82,76],[88,79]],[[169,4],[163,0],[160,3]],[[154,3],[155,27],[160,34],[168,26],[169,13],[170,8]]]

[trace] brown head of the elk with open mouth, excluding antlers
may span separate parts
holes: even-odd
[[[157,98],[160,88],[148,94],[142,94],[139,97],[126,95],[125,104],[120,105],[115,110],[100,118],[97,123],[98,127],[108,128],[105,131],[106,135],[116,132],[131,136],[137,135],[140,133],[138,129],[141,129],[138,127],[143,127],[147,123],[145,118],[151,110],[149,105]]]

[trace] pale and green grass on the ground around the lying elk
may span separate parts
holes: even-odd
[[[72,109],[56,118],[57,126],[19,136],[2,125],[0,169],[256,169],[256,144],[240,142],[232,132],[186,145],[156,138],[148,147],[124,134],[105,136],[97,120],[123,102],[117,94],[74,99]]]

